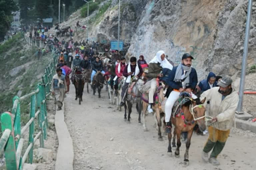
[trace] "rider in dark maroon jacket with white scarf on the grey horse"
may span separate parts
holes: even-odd
[[[139,64],[137,64],[137,59],[136,57],[131,57],[130,58],[130,63],[127,64],[124,68],[124,71],[123,71],[123,76],[126,77],[125,79],[125,83],[122,87],[122,94],[121,94],[121,97],[122,97],[122,101],[120,103],[120,106],[124,106],[125,103],[125,96],[126,96],[126,91],[127,91],[127,88],[128,88],[128,85],[130,84],[131,82],[131,79],[135,76],[135,77],[141,77],[142,73],[143,73],[143,70],[141,68],[141,66]]]

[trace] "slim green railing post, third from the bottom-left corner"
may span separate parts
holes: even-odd
[[[30,98],[30,119],[35,118],[35,113],[36,113],[36,96],[33,95]],[[28,144],[34,143],[34,121],[30,124],[29,126],[29,140]],[[33,163],[33,146],[31,147],[29,153],[28,153],[28,162]]]

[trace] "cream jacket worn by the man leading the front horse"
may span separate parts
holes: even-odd
[[[208,115],[217,117],[217,122],[212,124],[213,128],[219,130],[229,130],[233,125],[235,112],[238,105],[238,92],[233,88],[232,93],[222,100],[222,94],[218,92],[219,87],[213,87],[201,94],[200,100],[206,98],[206,103],[210,103]],[[209,102],[208,102],[209,101]]]

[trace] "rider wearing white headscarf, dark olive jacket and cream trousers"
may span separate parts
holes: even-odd
[[[154,93],[156,91],[157,81],[156,78],[163,77],[162,70],[163,68],[168,68],[172,70],[173,66],[169,63],[169,61],[165,58],[164,51],[158,51],[156,56],[149,62],[147,77],[151,78],[151,84],[148,94],[148,112],[152,113],[151,104],[154,103]]]

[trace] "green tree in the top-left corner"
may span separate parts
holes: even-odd
[[[0,0],[0,39],[3,40],[5,34],[10,29],[12,12],[17,11],[18,6],[13,0]]]

